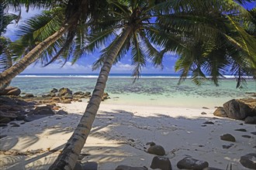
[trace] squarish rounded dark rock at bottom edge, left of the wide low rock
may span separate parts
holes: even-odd
[[[155,156],[151,162],[150,168],[158,168],[161,170],[171,170],[171,162],[169,158]]]

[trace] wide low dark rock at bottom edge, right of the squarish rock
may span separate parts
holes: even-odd
[[[199,161],[195,158],[185,157],[181,161],[178,162],[178,168],[185,168],[185,169],[196,169],[201,170],[203,168],[207,168],[209,166],[208,162]]]

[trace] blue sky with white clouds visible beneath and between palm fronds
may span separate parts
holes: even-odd
[[[245,5],[245,8],[251,9],[256,7],[256,2]],[[29,17],[39,14],[40,10],[30,9],[29,13],[22,10],[22,19],[18,24],[11,24],[7,28],[5,36],[8,36],[10,39],[15,40],[16,30],[19,25],[22,25],[22,22]],[[92,72],[92,63],[98,58],[99,52],[93,53],[91,55],[85,56],[78,60],[77,63],[71,65],[70,62],[67,62],[63,67],[61,63],[51,63],[46,67],[40,66],[40,64],[32,64],[24,70],[22,73],[99,73],[99,70]],[[167,54],[164,57],[164,68],[155,68],[147,63],[147,66],[142,70],[142,73],[175,73],[174,66],[177,57],[172,54]],[[123,59],[115,66],[112,66],[111,73],[132,73],[132,66],[129,53],[126,56],[123,56]]]

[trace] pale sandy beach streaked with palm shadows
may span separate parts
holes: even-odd
[[[70,138],[83,114],[86,102],[59,104],[68,114],[43,117],[36,121],[16,121],[20,127],[0,128],[1,169],[47,169]],[[104,104],[102,102],[91,134],[81,151],[81,162],[97,162],[98,169],[118,165],[150,167],[155,155],[147,153],[147,142],[164,147],[172,169],[189,155],[209,162],[210,167],[247,169],[240,156],[254,153],[255,125],[213,116],[214,108],[154,107]],[[206,114],[201,114],[206,112]],[[213,124],[204,124],[212,121]],[[247,131],[234,131],[244,128]],[[232,134],[236,142],[222,141]],[[244,138],[242,135],[250,135]],[[223,145],[233,144],[231,148]]]

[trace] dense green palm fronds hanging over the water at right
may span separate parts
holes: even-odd
[[[208,2],[193,2],[192,10],[175,16],[175,19],[173,15],[159,19],[161,29],[168,36],[178,28],[174,22],[187,15],[182,32],[184,36],[180,36],[185,48],[176,50],[178,61],[175,70],[182,73],[179,83],[191,73],[192,80],[198,85],[203,80],[208,80],[206,74],[218,85],[218,79],[223,77],[223,73],[230,73],[237,76],[237,87],[241,87],[242,76],[256,75],[256,39],[245,30],[255,30],[254,19],[236,2],[226,1],[227,6],[222,3],[213,6],[211,1]],[[193,15],[194,20],[190,20],[189,15]],[[192,28],[198,29],[199,33]],[[205,29],[206,34],[202,34],[202,29]],[[167,39],[164,42],[165,50],[173,50],[173,43],[171,39]]]

